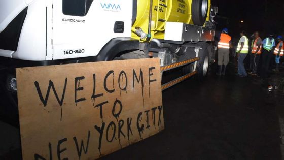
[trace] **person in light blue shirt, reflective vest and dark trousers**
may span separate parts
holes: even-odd
[[[275,39],[273,38],[273,34],[270,34],[269,37],[265,38],[262,41],[262,44],[262,67],[260,76],[262,79],[266,79],[268,77],[270,59],[273,56],[273,47],[275,47]]]

